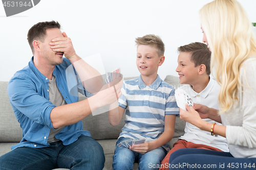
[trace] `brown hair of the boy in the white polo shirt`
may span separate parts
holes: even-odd
[[[195,67],[204,64],[206,74],[210,75],[210,56],[211,52],[205,43],[193,42],[187,45],[178,47],[178,52],[190,52],[190,61],[195,63]]]

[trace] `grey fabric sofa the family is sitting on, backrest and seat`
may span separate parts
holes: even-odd
[[[124,80],[131,79],[125,78]],[[175,76],[166,76],[165,82],[178,88],[180,85],[179,78]],[[7,93],[8,82],[0,82],[0,156],[11,151],[11,146],[15,145],[22,139],[22,129],[17,122],[9,103]],[[80,96],[79,100],[84,100],[84,96]],[[106,108],[100,108],[105,110]],[[102,110],[97,110],[102,112]],[[124,116],[120,125],[113,127],[109,124],[108,113],[99,115],[90,115],[82,120],[83,129],[91,132],[92,137],[97,140],[103,147],[105,154],[104,169],[112,169],[113,155],[115,150],[116,140],[124,126]],[[173,143],[178,140],[178,137],[184,134],[185,122],[176,116],[175,134],[169,142],[170,148]],[[138,163],[135,163],[134,169],[137,169]],[[58,168],[60,170],[60,168]]]

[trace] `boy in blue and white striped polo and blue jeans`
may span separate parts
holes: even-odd
[[[168,151],[168,141],[173,138],[175,117],[179,108],[175,100],[175,88],[157,75],[158,66],[165,57],[164,44],[160,37],[145,35],[136,38],[137,60],[140,77],[123,83],[118,108],[110,106],[109,122],[120,123],[124,110],[125,126],[117,140],[113,169],[158,169]],[[113,104],[114,105],[114,104]],[[127,139],[145,139],[144,143],[130,148],[119,147]]]

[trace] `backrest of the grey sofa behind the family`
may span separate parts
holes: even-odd
[[[125,78],[125,80],[133,79]],[[181,86],[179,78],[175,76],[166,76],[165,82],[173,85],[175,88]],[[19,142],[22,139],[22,129],[17,122],[13,109],[9,102],[7,93],[8,82],[0,81],[0,142]],[[84,96],[79,96],[79,101],[86,99]],[[108,110],[109,106],[104,106],[98,111],[103,112]],[[113,127],[109,124],[108,112],[93,116],[92,114],[82,120],[83,129],[88,130],[94,139],[116,139],[121,133],[124,126],[123,115],[121,123]],[[185,122],[176,116],[175,135],[179,137],[184,134]]]

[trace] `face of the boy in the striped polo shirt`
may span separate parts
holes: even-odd
[[[161,58],[155,47],[150,45],[138,45],[136,65],[141,76],[157,77],[158,66],[162,65]]]

